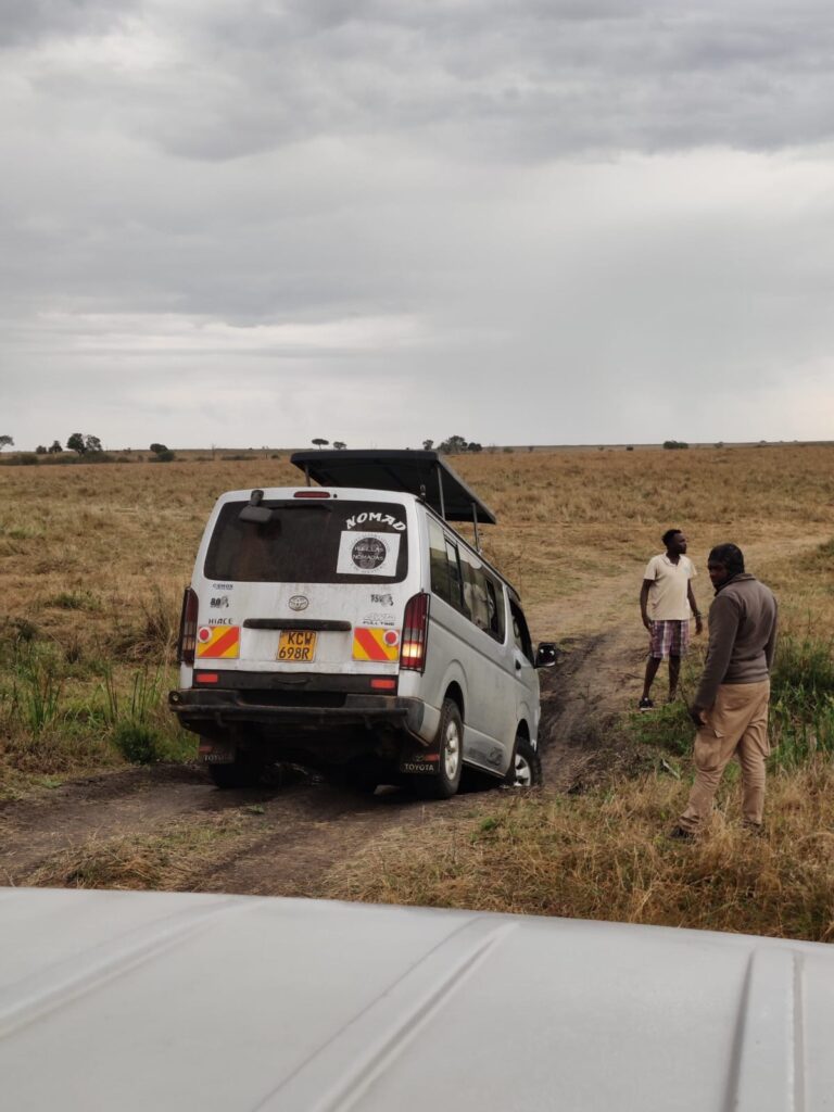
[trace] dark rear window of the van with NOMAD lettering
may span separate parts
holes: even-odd
[[[405,507],[397,503],[270,502],[267,522],[220,510],[206,556],[210,579],[242,583],[398,583],[408,572]]]

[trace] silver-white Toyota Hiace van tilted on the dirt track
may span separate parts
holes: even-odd
[[[448,797],[466,765],[540,778],[518,594],[477,548],[492,512],[434,451],[311,451],[307,485],[221,495],[186,589],[180,687],[220,787],[290,761]],[[311,486],[315,479],[320,486]],[[475,545],[449,520],[470,520]]]

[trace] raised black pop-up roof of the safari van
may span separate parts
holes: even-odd
[[[294,451],[290,463],[321,486],[405,490],[425,499],[447,522],[495,525],[495,514],[437,451]],[[476,517],[477,515],[477,517]]]

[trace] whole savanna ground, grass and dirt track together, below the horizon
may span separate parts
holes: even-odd
[[[222,793],[167,709],[182,588],[222,490],[298,485],[288,454],[0,466],[0,882],[236,891],[834,939],[834,446],[496,450],[453,467],[496,512],[542,674],[546,783],[425,804],[302,770]],[[302,481],[302,480],[301,480]],[[733,540],[781,606],[764,836],[732,766],[709,828],[666,837],[692,777],[685,704],[635,713],[637,596],[683,528]],[[694,641],[683,694],[706,638]],[[662,669],[655,693],[663,694]]]

